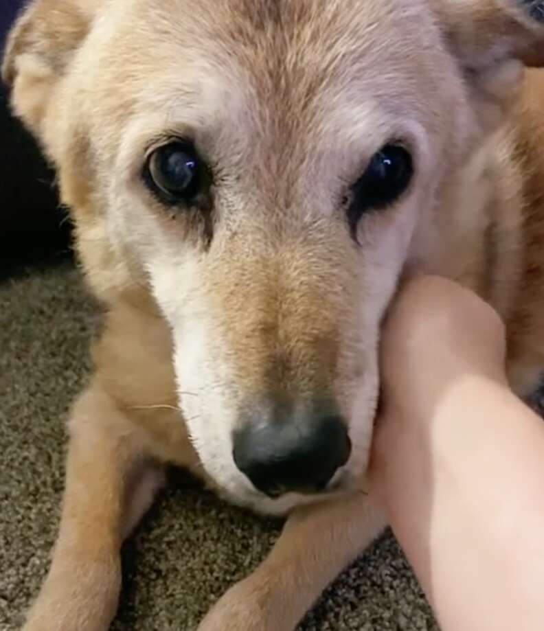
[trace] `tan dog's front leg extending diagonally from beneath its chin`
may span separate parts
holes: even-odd
[[[384,528],[383,514],[363,494],[298,509],[267,560],[218,601],[199,631],[293,631]]]

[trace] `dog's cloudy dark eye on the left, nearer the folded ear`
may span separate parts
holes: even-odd
[[[175,141],[150,154],[144,179],[166,203],[191,203],[201,192],[203,169],[196,150]]]

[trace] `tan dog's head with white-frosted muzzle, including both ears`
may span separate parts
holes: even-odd
[[[383,313],[544,59],[527,0],[37,0],[8,44],[106,299],[148,286],[234,500],[353,485]],[[541,28],[542,27],[542,28]]]

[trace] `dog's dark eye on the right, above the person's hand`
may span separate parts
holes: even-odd
[[[363,214],[395,203],[407,189],[412,175],[412,157],[403,146],[385,145],[374,154],[367,170],[352,187],[348,209],[352,231],[356,231]]]

